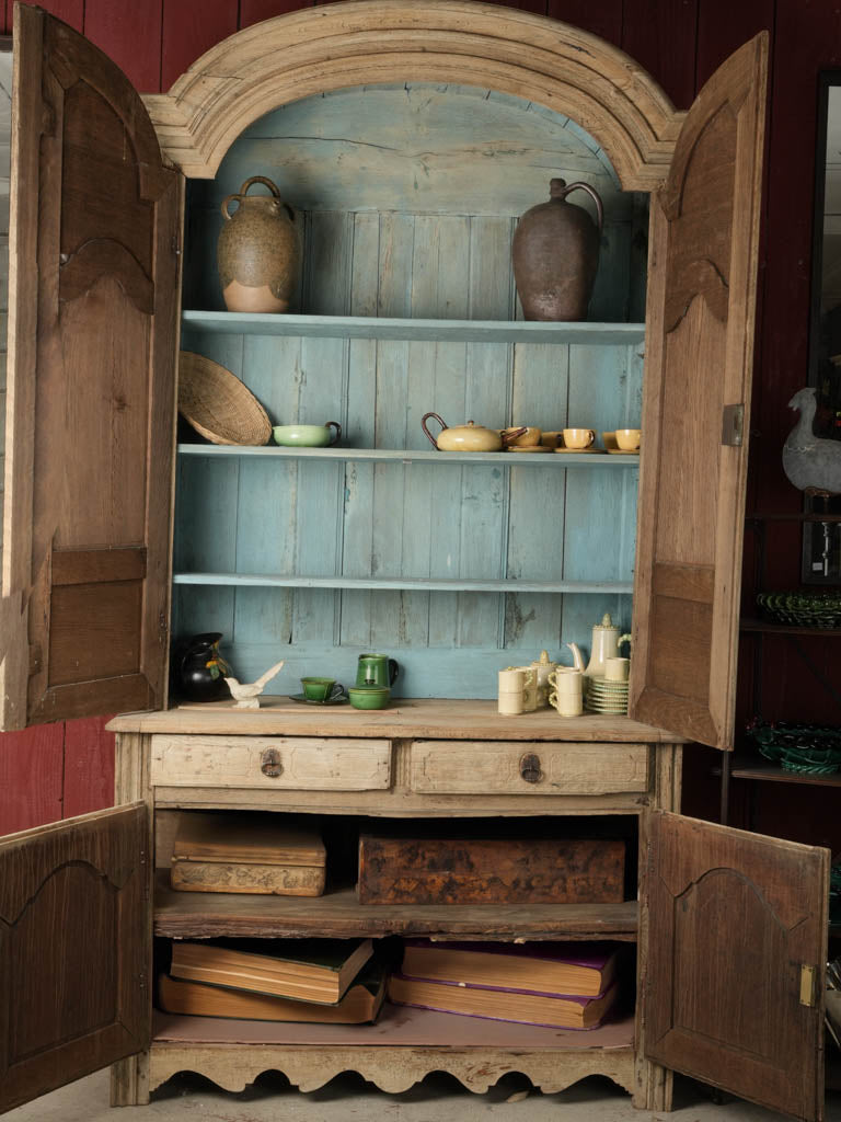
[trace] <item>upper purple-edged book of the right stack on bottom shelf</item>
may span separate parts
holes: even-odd
[[[405,942],[403,973],[414,978],[532,994],[601,997],[616,977],[616,948],[569,942]]]

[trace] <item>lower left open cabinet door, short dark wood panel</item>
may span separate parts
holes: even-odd
[[[0,842],[0,1113],[149,1047],[147,807]]]

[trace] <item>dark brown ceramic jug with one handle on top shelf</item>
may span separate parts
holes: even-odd
[[[586,191],[598,224],[566,201]],[[514,279],[527,320],[583,320],[595,283],[602,228],[601,199],[588,183],[552,180],[549,201],[527,210],[514,234]]]

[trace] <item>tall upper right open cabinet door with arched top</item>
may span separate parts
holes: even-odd
[[[715,72],[651,197],[629,712],[732,748],[767,33]]]

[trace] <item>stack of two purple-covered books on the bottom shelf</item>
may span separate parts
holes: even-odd
[[[389,1001],[463,1017],[593,1029],[617,997],[617,956],[601,945],[409,941]]]

